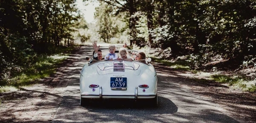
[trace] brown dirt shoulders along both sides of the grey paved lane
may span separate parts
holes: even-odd
[[[102,48],[107,48],[107,45]],[[77,52],[59,66],[55,75],[33,86],[21,88],[18,92],[0,94],[0,122],[51,122],[56,117],[61,102],[65,100],[63,97],[69,90],[68,85],[74,78],[77,79],[77,76],[73,76],[81,69],[77,63],[84,61],[86,56],[91,56],[92,50],[89,45],[78,47]],[[224,109],[223,112],[228,113],[234,121],[256,121],[255,94],[232,90],[215,82],[201,83],[194,78],[200,79],[203,76],[153,64],[157,75],[161,76],[161,81],[171,80],[181,88],[209,98],[213,103],[220,105]]]

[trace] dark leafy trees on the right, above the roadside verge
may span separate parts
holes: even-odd
[[[100,1],[129,12],[131,43],[170,47],[172,54],[208,53],[234,60],[256,55],[252,0]],[[206,45],[207,51],[201,50]]]

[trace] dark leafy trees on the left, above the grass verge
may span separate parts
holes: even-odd
[[[0,1],[0,82],[28,69],[39,54],[71,46],[80,14],[75,0]],[[64,52],[64,51],[63,51]]]

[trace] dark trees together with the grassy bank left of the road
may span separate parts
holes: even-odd
[[[75,2],[0,2],[0,93],[49,77],[74,50],[74,32],[86,28]]]

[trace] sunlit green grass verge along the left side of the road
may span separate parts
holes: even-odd
[[[49,77],[55,73],[59,63],[62,63],[67,54],[40,55],[37,62],[21,72],[17,72],[12,78],[7,79],[4,85],[0,86],[0,93],[17,91],[22,86],[36,84],[39,79]]]

